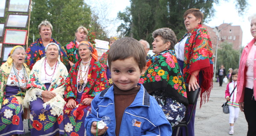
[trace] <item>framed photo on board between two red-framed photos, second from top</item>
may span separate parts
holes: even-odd
[[[27,14],[8,14],[6,27],[26,28],[28,19]]]

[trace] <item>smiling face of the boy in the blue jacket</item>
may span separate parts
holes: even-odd
[[[137,86],[140,76],[145,72],[140,72],[140,68],[133,57],[124,60],[117,59],[111,62],[111,78],[113,83],[121,90],[127,91]]]

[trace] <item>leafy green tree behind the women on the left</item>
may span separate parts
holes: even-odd
[[[74,40],[79,26],[89,27],[91,11],[83,0],[32,0],[29,44],[39,38],[38,25],[48,20],[53,27],[52,37],[62,45]]]

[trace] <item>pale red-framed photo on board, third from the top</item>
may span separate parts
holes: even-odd
[[[25,45],[27,30],[6,29],[4,44]]]

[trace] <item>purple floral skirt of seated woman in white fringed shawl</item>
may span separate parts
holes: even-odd
[[[64,135],[63,116],[56,115],[55,111],[47,105],[43,107],[44,101],[37,98],[30,102],[29,128],[31,136],[54,136]]]

